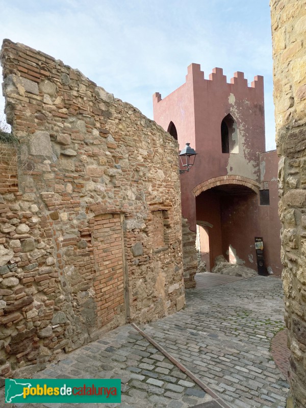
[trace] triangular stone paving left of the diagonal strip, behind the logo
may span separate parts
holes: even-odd
[[[35,378],[121,378],[121,403],[80,404],[80,408],[187,408],[213,398],[174,366],[131,325],[69,353]],[[4,401],[4,388],[0,391]],[[72,408],[79,404],[5,404],[7,408]],[[2,407],[2,405],[0,405]],[[219,408],[217,405],[216,408]]]

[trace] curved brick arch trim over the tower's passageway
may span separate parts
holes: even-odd
[[[253,190],[255,193],[258,193],[260,188],[259,183],[254,180],[248,179],[248,177],[242,177],[241,175],[221,175],[219,177],[214,177],[213,179],[209,179],[198,184],[192,189],[192,193],[195,197],[197,197],[203,191],[226,184],[245,186]]]

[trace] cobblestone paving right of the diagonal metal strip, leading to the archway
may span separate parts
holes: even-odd
[[[142,329],[232,406],[285,407],[289,386],[270,352],[284,327],[281,279],[190,289],[186,301]]]

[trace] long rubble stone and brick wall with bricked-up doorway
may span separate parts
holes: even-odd
[[[178,145],[59,60],[5,40],[1,62],[0,374],[28,376],[184,306]]]

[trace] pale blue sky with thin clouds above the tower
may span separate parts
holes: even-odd
[[[39,49],[151,118],[152,94],[223,68],[264,76],[266,149],[275,148],[268,0],[0,0],[0,41]],[[0,95],[0,119],[4,98]]]

